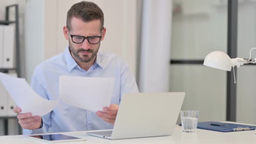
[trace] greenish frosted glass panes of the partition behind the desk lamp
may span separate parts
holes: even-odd
[[[227,0],[175,0],[184,4],[174,13],[172,59],[204,59],[212,51],[226,52]],[[256,1],[239,0],[237,56],[248,59],[256,47]],[[252,51],[256,57],[256,50]],[[226,71],[203,65],[171,65],[171,90],[184,90],[183,109],[200,111],[199,121],[226,120]],[[236,121],[256,124],[255,65],[236,73]]]

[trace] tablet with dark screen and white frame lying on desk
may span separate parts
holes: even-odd
[[[70,142],[70,141],[86,141],[85,138],[72,137],[64,134],[46,134],[46,135],[30,135],[26,136],[38,141],[48,143]]]

